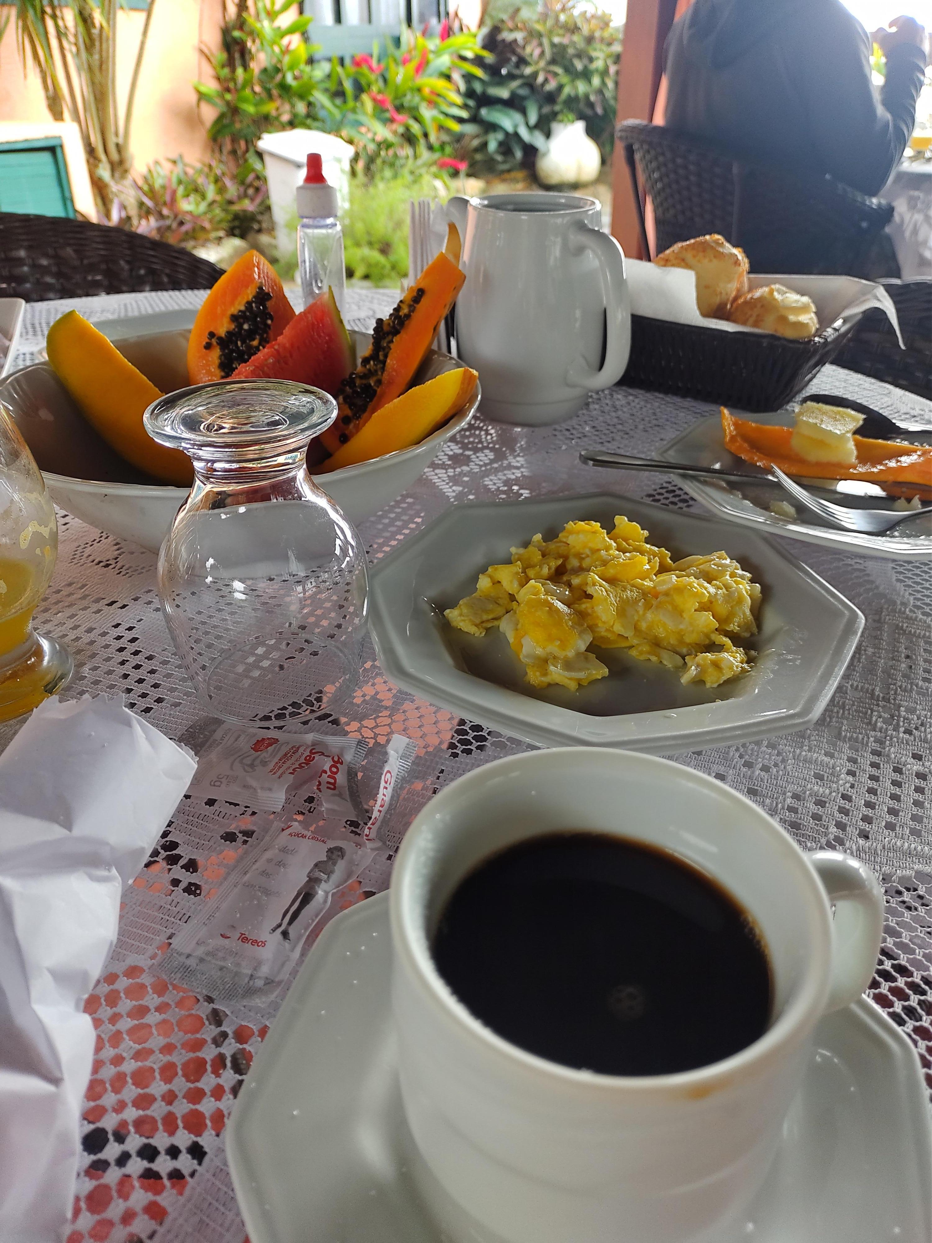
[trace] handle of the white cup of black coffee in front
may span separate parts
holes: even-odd
[[[884,931],[884,890],[870,868],[851,855],[816,850],[808,858],[835,907],[828,1014],[857,1001],[871,982]]]

